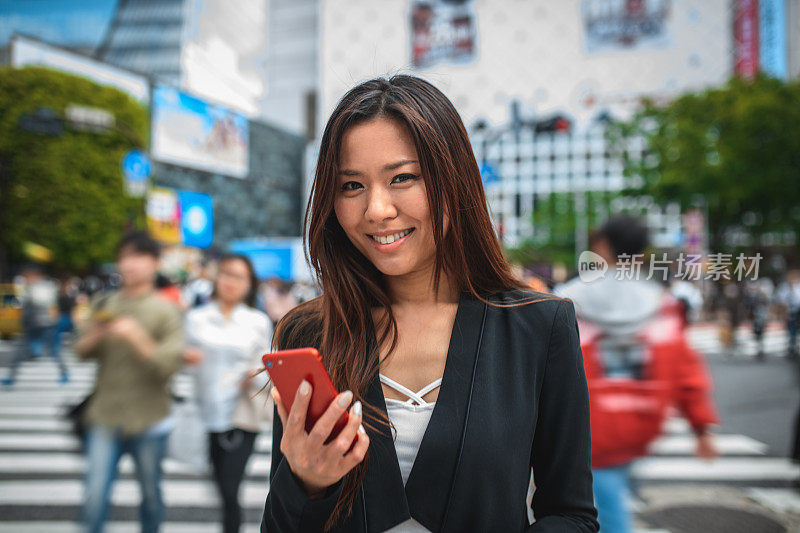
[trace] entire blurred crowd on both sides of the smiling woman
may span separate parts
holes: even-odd
[[[798,355],[800,271],[779,280],[699,284],[676,276],[659,283],[611,275],[620,254],[640,253],[646,244],[644,226],[615,217],[590,239],[611,268],[603,279],[556,284],[525,275],[531,288],[576,304],[596,505],[601,524],[617,532],[632,527],[631,464],[647,453],[671,407],[694,429],[697,455],[717,455],[709,431],[719,423],[711,378],[688,343],[689,324],[715,323],[726,353],[735,354],[735,332],[747,323],[763,359],[764,332],[777,321],[786,328],[787,355]],[[271,428],[272,406],[259,394],[267,385],[261,356],[271,350],[281,317],[317,292],[309,284],[259,280],[245,255],[208,257],[182,282],[160,273],[159,265],[159,244],[138,232],[119,243],[111,274],[54,279],[40,265],[24,266],[3,289],[4,308],[19,313],[16,322],[4,316],[2,332],[22,337],[3,384],[13,387],[20,366],[46,353],[59,366],[61,383],[69,382],[65,339],[78,358],[97,362],[92,392],[69,411],[87,461],[81,515],[87,531],[102,530],[118,461],[127,453],[141,488],[143,530],[156,531],[164,520],[161,464],[172,457],[210,465],[223,530],[235,532],[248,459],[258,433]],[[191,376],[190,401],[170,386],[181,371]]]

